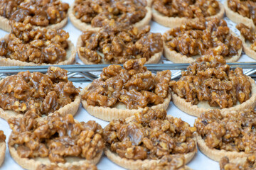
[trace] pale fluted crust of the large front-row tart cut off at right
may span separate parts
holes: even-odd
[[[236,158],[243,158],[247,157],[249,154],[245,154],[245,152],[230,152],[225,151],[223,149],[212,149],[206,145],[206,142],[200,135],[196,136],[196,140],[198,143],[198,148],[203,154],[205,154],[210,159],[213,159],[216,162],[219,162],[222,157],[228,157],[228,159],[236,159]]]

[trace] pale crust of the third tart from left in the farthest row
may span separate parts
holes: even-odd
[[[211,18],[214,18],[214,17],[223,18],[224,13],[225,13],[225,9],[223,7],[223,4],[220,3],[220,1],[218,1],[218,4],[220,6],[220,11],[214,16],[206,17],[206,20],[209,21]],[[185,17],[164,16],[161,13],[159,13],[159,11],[156,11],[153,6],[152,6],[152,19],[154,21],[156,21],[156,23],[159,23],[162,26],[166,26],[166,27],[169,27],[169,28],[174,28],[174,27],[177,27],[177,26],[181,26],[183,23],[195,20],[195,18],[188,19],[188,18],[185,18]]]

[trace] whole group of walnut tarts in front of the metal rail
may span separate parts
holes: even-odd
[[[0,117],[8,121],[11,157],[25,169],[96,169],[103,150],[126,169],[189,169],[197,145],[221,169],[255,169],[256,85],[224,57],[203,55],[178,81],[152,74],[145,59],[102,69],[80,89],[67,71],[20,72],[0,81]],[[170,101],[198,118],[194,127],[166,114]],[[96,118],[74,120],[82,102]],[[4,161],[5,136],[1,132]],[[222,158],[223,157],[223,158]]]

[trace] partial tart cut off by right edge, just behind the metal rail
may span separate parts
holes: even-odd
[[[255,30],[243,23],[239,23],[236,28],[240,30],[240,38],[242,40],[242,49],[246,55],[256,60],[256,38]]]

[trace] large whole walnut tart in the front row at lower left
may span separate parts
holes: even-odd
[[[24,169],[57,164],[60,167],[97,164],[105,142],[95,121],[74,120],[73,115],[55,112],[48,117],[10,118],[11,157]]]

